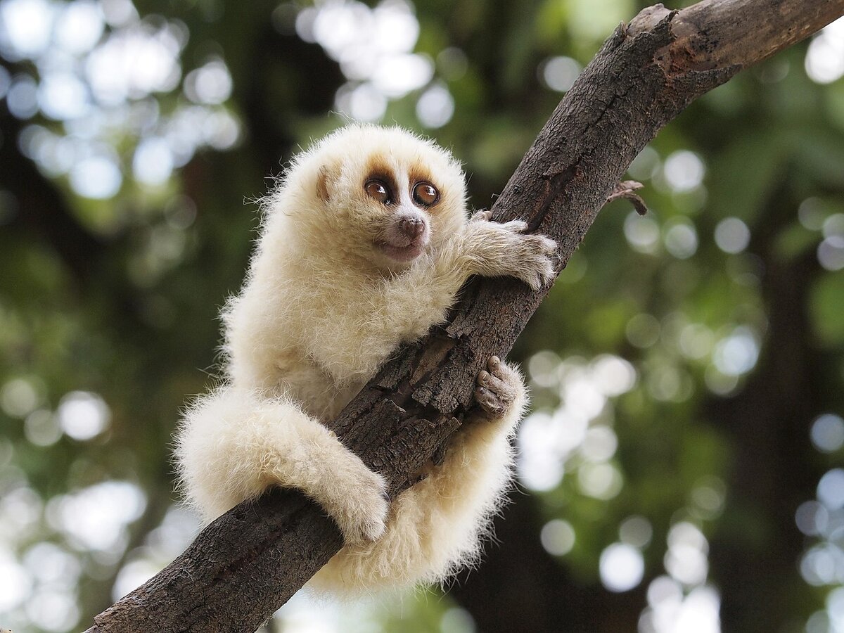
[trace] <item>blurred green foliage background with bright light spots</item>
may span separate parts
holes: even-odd
[[[296,149],[396,122],[489,206],[646,4],[0,0],[0,628],[85,629],[196,533],[171,436]],[[844,631],[842,75],[838,20],[630,166],[650,213],[603,210],[514,351],[479,569],[268,627]]]

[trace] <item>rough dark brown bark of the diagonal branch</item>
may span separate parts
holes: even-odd
[[[749,63],[844,14],[844,0],[705,0],[661,5],[619,29],[587,66],[493,207],[560,243],[559,269],[630,161],[692,100]],[[403,349],[333,422],[391,483],[441,452],[472,404],[485,360],[504,355],[548,289],[476,279],[442,327]],[[341,545],[304,496],[273,490],[208,526],[158,576],[95,618],[89,631],[252,631]]]

